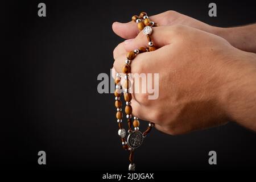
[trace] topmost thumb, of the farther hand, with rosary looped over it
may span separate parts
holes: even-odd
[[[169,25],[171,15],[174,11],[166,11],[164,13],[160,13],[158,15],[150,16],[150,20],[158,23],[159,26],[167,26]],[[170,16],[170,18],[168,18]],[[139,30],[137,28],[137,23],[135,22],[128,22],[128,23],[119,23],[119,22],[114,22],[112,24],[112,29],[117,34],[118,36],[121,36],[121,38],[124,39],[131,39],[135,38],[139,34]]]

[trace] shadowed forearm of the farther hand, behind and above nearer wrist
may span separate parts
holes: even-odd
[[[215,31],[232,46],[256,53],[256,23],[241,27],[215,28]]]

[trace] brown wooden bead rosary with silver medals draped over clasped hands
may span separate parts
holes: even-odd
[[[126,142],[126,130],[123,129],[122,126],[122,102],[120,100],[120,96],[122,93],[122,86],[121,86],[121,75],[117,73],[115,76],[115,107],[117,107],[117,123],[118,123],[118,135],[121,137],[121,142],[123,149],[127,150],[129,152],[129,171],[135,171],[135,164],[133,162],[133,156],[134,156],[134,150],[135,148],[138,148],[141,146],[143,139],[146,137],[148,133],[150,133],[152,127],[154,126],[154,123],[150,122],[148,123],[148,127],[146,131],[141,133],[139,131],[139,119],[135,117],[133,113],[133,108],[131,107],[131,99],[132,95],[130,93],[130,81],[129,81],[129,73],[131,71],[131,61],[139,54],[143,52],[149,52],[149,51],[154,51],[156,47],[154,46],[152,40],[151,40],[151,34],[152,34],[152,28],[151,27],[156,27],[158,24],[152,22],[147,14],[145,12],[142,12],[139,14],[139,16],[134,15],[132,18],[133,22],[137,23],[137,27],[139,31],[143,31],[143,34],[147,36],[148,40],[148,48],[140,47],[138,49],[135,49],[134,51],[130,51],[126,55],[126,60],[125,60],[125,65],[123,65],[122,72],[125,74],[124,77],[124,93],[123,97],[126,101],[126,106],[125,106],[125,114],[127,118],[127,123],[128,123],[128,137],[127,137],[127,142]],[[133,126],[134,130],[131,129],[131,118],[134,118],[133,120]]]

